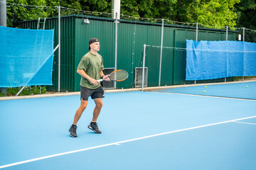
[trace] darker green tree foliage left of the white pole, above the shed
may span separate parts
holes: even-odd
[[[73,8],[83,11],[99,11],[111,13],[111,0],[7,0],[7,26],[13,27],[17,21],[26,21],[37,18],[58,16],[55,6]],[[13,5],[23,4],[24,6]],[[25,6],[32,5],[32,6]],[[35,8],[33,6],[53,6],[53,8]],[[80,14],[79,11],[70,11],[62,8],[61,15]]]

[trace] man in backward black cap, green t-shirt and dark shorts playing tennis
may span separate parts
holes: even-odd
[[[91,98],[95,101],[95,109],[92,115],[92,122],[88,125],[90,130],[93,130],[95,133],[101,133],[97,126],[97,118],[100,115],[102,108],[102,98],[104,98],[104,90],[97,79],[106,79],[110,81],[108,75],[104,75],[102,70],[103,60],[102,56],[97,52],[100,51],[100,42],[97,38],[91,38],[89,40],[89,50],[86,55],[82,57],[80,63],[78,64],[77,72],[81,76],[80,80],[80,99],[81,104],[78,108],[78,111],[75,113],[75,118],[73,125],[71,125],[69,132],[71,137],[78,137],[77,135],[77,123],[80,119],[82,112],[85,111],[85,108],[88,103],[88,98]]]

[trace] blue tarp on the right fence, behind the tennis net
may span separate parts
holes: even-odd
[[[186,80],[256,76],[256,43],[186,40]]]

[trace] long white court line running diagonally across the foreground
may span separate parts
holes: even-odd
[[[156,134],[156,135],[138,137],[138,138],[134,138],[132,140],[123,140],[123,141],[120,141],[120,142],[114,142],[114,143],[110,143],[110,144],[106,144],[106,145],[99,145],[99,146],[96,146],[96,147],[87,147],[87,148],[84,148],[84,149],[78,149],[78,150],[74,150],[74,151],[70,151],[70,152],[63,152],[63,153],[60,153],[60,154],[52,154],[52,155],[49,155],[49,156],[46,156],[46,157],[38,157],[38,158],[35,158],[35,159],[28,159],[26,161],[16,162],[16,163],[13,163],[13,164],[6,164],[6,165],[3,165],[3,166],[0,166],[0,169],[4,169],[4,168],[9,167],[9,166],[15,166],[15,165],[18,165],[18,164],[26,164],[28,162],[35,162],[35,161],[38,161],[38,160],[41,160],[41,159],[48,159],[48,158],[51,158],[51,157],[58,157],[58,156],[65,155],[65,154],[73,154],[75,152],[82,152],[82,151],[86,151],[86,150],[97,149],[97,148],[100,148],[100,147],[108,147],[108,146],[111,146],[111,145],[120,145],[122,143],[132,142],[132,141],[135,141],[135,140],[143,140],[143,139],[146,139],[146,138],[149,138],[149,137],[156,137],[156,136],[167,135],[167,134],[171,134],[171,133],[175,133],[175,132],[182,132],[182,131],[186,131],[186,130],[205,128],[205,127],[208,127],[208,126],[220,125],[220,124],[223,124],[223,123],[231,123],[231,122],[235,122],[235,121],[238,121],[238,120],[245,120],[245,119],[250,119],[250,118],[256,118],[256,115],[250,116],[250,117],[247,117],[247,118],[239,118],[239,119],[235,119],[235,120],[228,120],[228,121],[219,122],[219,123],[201,125],[201,126],[196,126],[196,127],[192,127],[192,128],[174,130],[174,131],[170,131],[170,132],[163,132],[163,133],[159,133],[159,134]]]

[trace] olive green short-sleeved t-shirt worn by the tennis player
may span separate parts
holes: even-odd
[[[78,69],[85,71],[85,73],[92,77],[92,79],[100,79],[100,71],[104,69],[102,56],[99,54],[92,55],[91,52],[87,52],[86,55],[82,56],[82,59],[78,64]],[[95,86],[89,80],[85,79],[85,77],[81,77],[80,85],[89,89],[97,89],[100,87],[100,83]]]

